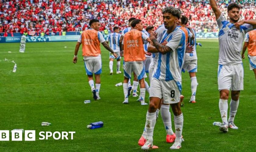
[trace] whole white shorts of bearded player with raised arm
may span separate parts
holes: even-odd
[[[220,65],[218,67],[218,85],[220,90],[244,90],[243,64]]]

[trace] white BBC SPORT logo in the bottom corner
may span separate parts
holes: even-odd
[[[53,138],[54,140],[73,140],[75,131],[41,131],[39,132],[39,140],[48,140]],[[9,130],[0,130],[0,141],[9,141],[10,140],[10,131]],[[23,140],[23,130],[12,130],[12,141],[22,141]],[[36,131],[35,130],[25,130],[24,132],[25,141],[36,141]]]

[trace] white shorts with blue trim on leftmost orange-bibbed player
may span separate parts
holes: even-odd
[[[87,75],[101,74],[101,59],[84,60],[84,67]]]

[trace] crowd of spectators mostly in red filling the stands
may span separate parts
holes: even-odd
[[[227,3],[218,1],[225,17]],[[93,18],[100,20],[101,31],[112,30],[114,26],[123,29],[130,17],[141,19],[144,26],[157,27],[162,24],[161,10],[165,6],[179,8],[190,21],[215,21],[208,0],[0,0],[0,33],[6,36],[7,33],[82,31]],[[256,19],[253,0],[241,6],[242,19]],[[194,25],[195,29],[205,28]],[[216,26],[207,26],[216,29]]]

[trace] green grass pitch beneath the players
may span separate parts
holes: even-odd
[[[191,90],[186,72],[182,74],[185,141],[179,151],[255,151],[256,88],[248,59],[244,60],[244,91],[235,118],[239,130],[220,133],[219,128],[212,125],[214,121],[221,121],[217,86],[218,40],[197,41],[203,45],[197,46],[197,103],[188,102]],[[23,141],[1,141],[0,151],[141,151],[137,142],[148,106],[141,106],[133,97],[129,104],[122,104],[123,87],[115,87],[115,84],[123,82],[123,70],[122,74],[109,75],[109,53],[103,47],[101,100],[94,101],[81,48],[78,63],[72,63],[75,45],[76,42],[27,43],[25,53],[19,53],[19,43],[0,44],[0,130],[36,130],[36,141],[24,141],[23,133]],[[14,64],[3,61],[5,58],[16,62],[16,73],[9,72]],[[113,70],[116,70],[116,61]],[[84,104],[84,100],[92,102]],[[146,93],[146,102],[148,100]],[[45,121],[52,126],[41,126]],[[104,127],[86,128],[97,121],[103,121]],[[40,131],[76,133],[73,140],[53,140],[52,137],[39,140]],[[154,145],[159,149],[152,151],[169,150],[172,144],[165,143],[165,137],[160,116],[154,130]]]

